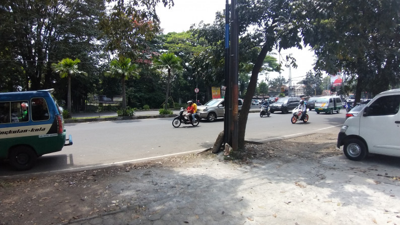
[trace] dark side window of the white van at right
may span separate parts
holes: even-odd
[[[400,95],[382,96],[376,99],[368,108],[370,116],[397,114],[400,107]]]

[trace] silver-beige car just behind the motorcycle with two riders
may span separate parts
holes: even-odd
[[[206,104],[197,106],[197,113],[201,119],[207,119],[210,122],[215,121],[218,117],[224,117],[225,99],[213,99]],[[243,100],[238,100],[238,111],[242,109]]]

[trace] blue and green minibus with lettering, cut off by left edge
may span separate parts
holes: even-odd
[[[0,159],[17,170],[29,170],[37,157],[72,145],[66,139],[54,89],[0,93]],[[65,143],[68,141],[68,143]]]

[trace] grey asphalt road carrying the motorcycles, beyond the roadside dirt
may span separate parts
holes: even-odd
[[[291,116],[291,113],[274,113],[270,117],[261,118],[258,113],[250,113],[245,139],[268,141],[331,129],[339,132],[345,121],[344,111],[332,115],[317,115],[311,111],[307,123],[292,124]],[[72,146],[65,146],[61,152],[38,158],[37,165],[28,172],[13,171],[9,165],[0,164],[0,173],[9,176],[54,170],[82,170],[201,152],[213,146],[224,126],[223,119],[218,119],[215,122],[202,120],[196,127],[182,124],[174,128],[172,119],[65,124],[67,134],[73,136]]]

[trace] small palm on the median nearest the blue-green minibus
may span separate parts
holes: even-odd
[[[78,70],[78,63],[81,62],[79,58],[72,60],[70,58],[63,58],[57,64],[52,63],[51,67],[54,69],[55,72],[60,74],[61,78],[68,78],[68,100],[67,100],[67,109],[68,112],[71,111],[71,77],[75,76],[76,74],[84,74],[85,76],[88,74],[84,71]]]

